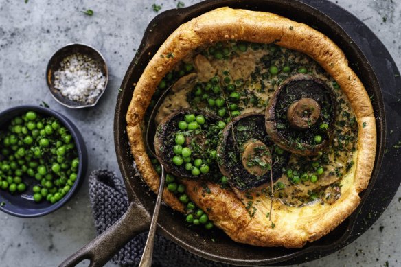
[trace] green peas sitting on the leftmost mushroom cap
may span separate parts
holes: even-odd
[[[177,126],[181,131],[197,130],[200,129],[205,124],[205,122],[205,117],[203,115],[187,114],[184,116],[183,121],[179,121]],[[222,123],[225,126],[225,123]],[[222,126],[221,123],[220,125]],[[185,170],[187,170],[187,172],[190,172],[193,176],[199,176],[200,174],[209,173],[209,163],[211,161],[215,161],[217,157],[216,150],[209,151],[209,159],[200,159],[198,157],[195,158],[192,155],[193,151],[187,146],[184,146],[185,136],[180,133],[180,131],[177,133],[174,141],[176,145],[173,147],[175,155],[172,158],[172,163],[177,166],[181,166],[183,165],[183,163],[185,163]]]

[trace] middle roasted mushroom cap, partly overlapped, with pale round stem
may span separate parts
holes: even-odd
[[[222,132],[218,166],[231,186],[242,191],[276,181],[290,154],[274,145],[264,127],[264,115],[247,113],[234,118]]]

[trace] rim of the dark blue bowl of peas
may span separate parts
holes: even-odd
[[[65,205],[68,200],[71,199],[73,194],[76,193],[77,189],[79,189],[80,185],[82,184],[82,181],[84,180],[84,176],[86,175],[86,161],[87,161],[87,152],[86,152],[86,147],[84,142],[80,143],[79,138],[82,136],[80,135],[80,132],[78,128],[72,123],[72,121],[65,117],[65,115],[62,115],[61,113],[58,113],[57,111],[51,110],[50,108],[44,108],[42,106],[33,106],[33,105],[21,105],[21,106],[14,106],[12,108],[5,109],[4,111],[0,112],[0,119],[13,112],[20,112],[24,113],[27,111],[36,111],[38,113],[41,113],[43,115],[48,115],[52,117],[56,117],[63,126],[65,126],[71,136],[73,137],[73,141],[76,144],[76,149],[78,150],[78,159],[80,160],[80,163],[78,165],[78,172],[77,172],[77,178],[76,181],[73,183],[73,186],[69,190],[69,192],[58,202],[51,204],[49,207],[41,209],[40,212],[38,213],[32,213],[32,214],[25,214],[25,213],[18,213],[15,211],[10,211],[9,209],[5,208],[8,205],[0,206],[0,210],[4,211],[5,213],[8,213],[12,216],[16,217],[21,217],[21,218],[34,218],[34,217],[39,217],[39,216],[45,216],[53,211],[56,211],[62,205]],[[83,141],[83,139],[82,139]],[[1,196],[1,191],[0,191],[0,196]]]

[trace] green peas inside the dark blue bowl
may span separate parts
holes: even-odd
[[[58,202],[76,181],[78,152],[69,130],[34,111],[14,117],[0,131],[0,187],[11,194],[34,179],[35,202]],[[30,181],[32,184],[32,181]]]

